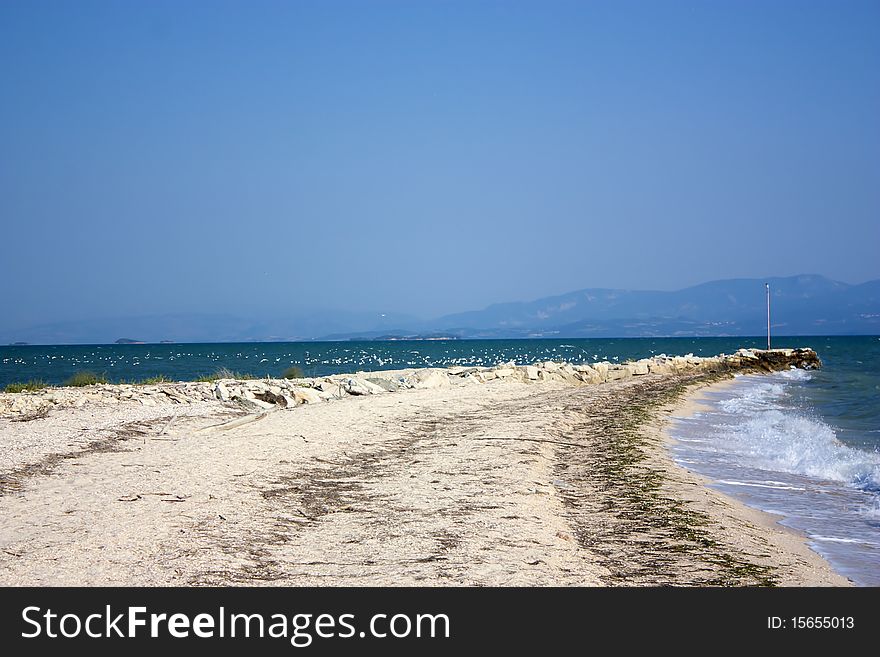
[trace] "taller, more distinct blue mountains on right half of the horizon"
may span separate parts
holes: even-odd
[[[880,333],[880,280],[848,285],[816,275],[713,281],[675,292],[592,288],[449,315],[432,328],[467,337],[761,335],[765,282],[778,334]]]

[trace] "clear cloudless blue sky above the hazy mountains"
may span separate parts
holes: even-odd
[[[880,2],[0,3],[5,327],[880,278]]]

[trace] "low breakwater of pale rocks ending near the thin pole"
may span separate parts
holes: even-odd
[[[676,374],[773,372],[792,367],[820,367],[815,351],[803,349],[740,349],[713,357],[659,355],[625,363],[560,363],[493,367],[452,367],[357,372],[304,379],[220,379],[214,382],[151,385],[97,384],[81,388],[46,388],[35,392],[0,393],[0,417],[28,420],[56,408],[87,404],[141,404],[145,406],[216,401],[246,410],[266,411],[318,404],[345,397],[379,395],[409,389],[481,385],[490,382],[536,384],[556,381],[571,385],[613,383],[639,376]]]

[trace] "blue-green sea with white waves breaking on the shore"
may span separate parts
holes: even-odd
[[[258,377],[291,366],[306,376],[538,360],[591,363],[658,354],[714,356],[766,338],[393,340],[296,343],[0,347],[0,390],[63,384],[88,370],[108,381],[191,380],[221,368]],[[671,428],[673,457],[712,485],[803,532],[841,574],[880,585],[880,337],[784,337],[823,368],[738,376]]]

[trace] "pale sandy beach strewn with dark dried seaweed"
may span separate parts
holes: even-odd
[[[671,460],[724,376],[6,415],[0,584],[847,585]]]

